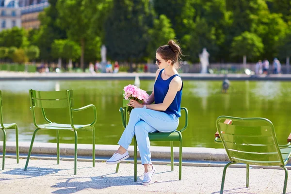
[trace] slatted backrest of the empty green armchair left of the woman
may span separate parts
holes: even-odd
[[[43,118],[48,122],[52,123],[45,114],[44,109],[60,109],[60,108],[68,108],[69,113],[71,114],[71,107],[73,106],[73,91],[65,90],[65,91],[56,91],[56,92],[44,92],[44,91],[36,91],[29,90],[30,94],[30,103],[32,109],[32,118],[35,127],[38,128],[35,119],[34,108],[41,108],[41,112]],[[70,117],[71,119],[71,117]]]

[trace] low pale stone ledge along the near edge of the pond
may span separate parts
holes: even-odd
[[[19,153],[28,153],[30,142],[19,142]],[[95,145],[96,156],[112,156],[118,145]],[[3,142],[0,142],[0,152],[3,151]],[[6,142],[6,153],[16,153],[16,143]],[[60,155],[73,156],[74,144],[60,144]],[[34,142],[32,154],[57,154],[56,143]],[[129,146],[129,154],[133,156],[133,146]],[[92,145],[78,144],[79,156],[91,156]],[[139,157],[139,152],[138,152]],[[167,146],[151,146],[151,157],[153,159],[169,159],[171,149]],[[174,158],[179,158],[179,147],[174,147]],[[183,161],[228,161],[225,149],[205,147],[183,147]]]

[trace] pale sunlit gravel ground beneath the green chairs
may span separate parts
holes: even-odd
[[[97,162],[78,162],[74,175],[74,162],[53,160],[6,159],[5,170],[0,171],[0,194],[219,194],[223,168],[182,167],[182,180],[178,180],[178,166],[171,171],[169,165],[155,165],[157,173],[149,186],[141,185],[143,166],[138,165],[138,180],[133,181],[133,164],[116,165]],[[245,187],[245,168],[229,168],[226,173],[225,194],[281,194],[284,171],[250,169],[249,188]],[[289,178],[289,185],[291,185]],[[287,193],[291,187],[287,187]]]

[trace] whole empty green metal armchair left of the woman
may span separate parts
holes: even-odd
[[[84,106],[79,109],[73,109],[73,91],[66,90],[66,91],[57,91],[57,92],[41,92],[35,90],[29,90],[30,95],[30,103],[31,103],[31,110],[32,110],[32,118],[33,124],[36,127],[33,135],[32,135],[32,142],[29,148],[27,161],[25,164],[24,170],[27,169],[28,162],[32,152],[32,145],[35,138],[35,134],[38,130],[56,130],[57,131],[57,163],[60,163],[60,147],[59,147],[59,134],[60,130],[71,130],[75,133],[75,165],[74,165],[74,174],[77,174],[77,144],[78,144],[78,131],[92,131],[92,158],[93,158],[93,167],[95,167],[95,128],[94,125],[97,122],[97,112],[96,107],[93,104]],[[37,125],[35,119],[34,108],[40,108],[42,116],[47,124],[44,125]],[[70,115],[70,124],[58,124],[51,122],[45,114],[46,108],[49,109],[59,109],[59,108],[68,108],[68,113]],[[75,125],[73,120],[73,113],[83,111],[88,108],[93,108],[94,112],[94,121],[91,124],[87,125]]]

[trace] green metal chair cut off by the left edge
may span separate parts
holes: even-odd
[[[15,123],[4,124],[2,114],[2,92],[0,90],[0,129],[3,131],[3,156],[2,156],[2,170],[5,167],[5,152],[6,152],[6,130],[15,129],[16,135],[16,162],[19,163],[19,148],[18,148],[18,127]]]

